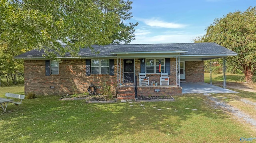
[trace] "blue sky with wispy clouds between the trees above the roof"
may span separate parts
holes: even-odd
[[[256,0],[132,0],[136,40],[130,44],[193,43],[215,18],[244,12]]]

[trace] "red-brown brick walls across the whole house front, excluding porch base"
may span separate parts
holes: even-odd
[[[121,60],[122,61],[122,60]],[[25,94],[35,92],[37,95],[66,95],[87,92],[90,83],[101,86],[104,81],[112,86],[114,93],[117,86],[117,60],[115,62],[115,75],[91,74],[86,76],[84,59],[62,60],[59,64],[58,75],[45,75],[45,60],[24,60]],[[121,71],[123,70],[122,63]],[[170,59],[170,85],[176,85],[176,59]],[[119,69],[118,69],[119,70]],[[138,76],[140,63],[135,59],[135,73]],[[159,84],[160,74],[146,74],[150,83],[155,80]],[[121,83],[123,84],[121,72]],[[204,82],[204,62],[186,61],[186,82]],[[139,80],[137,79],[137,84]],[[50,88],[54,86],[54,88]],[[97,89],[99,90],[99,89]],[[99,91],[97,92],[99,93]]]

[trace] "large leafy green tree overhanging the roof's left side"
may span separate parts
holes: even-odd
[[[67,52],[77,56],[80,47],[107,45],[121,38],[112,39],[124,31],[121,20],[131,18],[131,3],[123,0],[0,0],[2,75],[16,83],[23,63],[14,57],[32,49],[44,50],[46,57],[56,59]],[[133,32],[130,32],[132,36]],[[62,47],[63,44],[68,46]]]

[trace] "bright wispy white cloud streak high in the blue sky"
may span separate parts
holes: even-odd
[[[162,20],[157,20],[156,18],[152,19],[138,19],[144,22],[146,25],[151,27],[161,27],[161,28],[183,28],[186,27],[184,24],[176,24],[173,22],[164,22]]]

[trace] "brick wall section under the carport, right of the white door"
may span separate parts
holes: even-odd
[[[186,82],[204,82],[204,61],[186,61]]]

